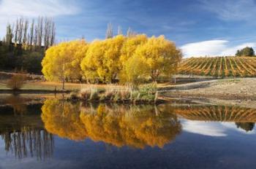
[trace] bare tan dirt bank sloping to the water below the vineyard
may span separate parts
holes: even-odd
[[[166,98],[189,98],[256,107],[256,78],[209,80],[159,87]]]

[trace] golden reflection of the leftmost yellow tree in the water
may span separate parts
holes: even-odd
[[[49,133],[83,141],[87,137],[86,128],[80,121],[79,104],[72,104],[58,99],[46,100],[42,106],[42,121]]]

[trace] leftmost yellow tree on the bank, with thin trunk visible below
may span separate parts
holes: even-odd
[[[84,40],[62,42],[50,47],[42,60],[42,74],[50,81],[81,79],[80,61],[85,57],[88,44]]]

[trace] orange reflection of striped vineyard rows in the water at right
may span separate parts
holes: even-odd
[[[238,106],[176,107],[176,114],[185,119],[219,122],[256,122],[256,109]]]

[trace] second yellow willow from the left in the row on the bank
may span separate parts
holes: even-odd
[[[121,47],[125,37],[118,35],[104,41],[90,44],[86,57],[80,66],[86,79],[100,79],[102,82],[113,82],[121,68]]]

